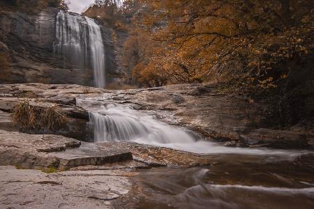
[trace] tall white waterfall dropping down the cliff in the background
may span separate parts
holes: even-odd
[[[80,67],[91,67],[95,86],[105,86],[105,50],[100,26],[93,19],[62,10],[57,15],[54,52],[64,61]]]

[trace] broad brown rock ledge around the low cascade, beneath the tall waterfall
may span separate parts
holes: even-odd
[[[207,139],[226,146],[313,148],[314,132],[302,125],[274,130],[264,123],[264,104],[244,95],[219,93],[210,84],[181,84],[160,88],[110,91],[78,85],[8,84],[0,85],[0,112],[6,120],[0,128],[12,130],[8,113],[17,102],[28,98],[31,105],[42,108],[58,105],[68,114],[68,126],[53,134],[63,134],[89,141],[87,111],[75,106],[76,98],[126,104],[139,111],[153,113],[160,120],[182,125]],[[49,132],[44,132],[45,134]]]

